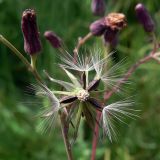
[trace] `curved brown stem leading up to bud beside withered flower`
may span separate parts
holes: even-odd
[[[86,36],[84,36],[83,38],[79,38],[78,39],[78,43],[76,45],[76,47],[74,48],[73,50],[73,53],[74,53],[74,62],[76,63],[77,61],[77,56],[78,56],[78,51],[80,49],[80,47],[87,41],[89,40],[91,37],[92,37],[92,33],[88,33]]]

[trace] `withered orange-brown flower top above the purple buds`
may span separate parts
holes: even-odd
[[[112,30],[122,30],[127,26],[126,16],[122,13],[110,13],[105,17],[105,25]]]

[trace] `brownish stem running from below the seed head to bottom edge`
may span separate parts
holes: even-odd
[[[68,160],[73,160],[71,145],[70,145],[70,142],[68,139],[69,124],[66,122],[66,113],[67,113],[67,111],[61,113],[61,115],[60,115],[61,130],[62,130],[62,135],[63,135],[63,140],[65,143],[65,148],[66,148]]]

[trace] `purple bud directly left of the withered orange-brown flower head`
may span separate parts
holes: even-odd
[[[90,25],[90,31],[94,36],[101,36],[106,29],[104,18],[99,19]]]

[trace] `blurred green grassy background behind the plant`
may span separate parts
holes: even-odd
[[[116,60],[126,57],[126,69],[152,48],[134,13],[138,2],[106,0],[106,14],[123,12],[128,19],[128,27],[120,34],[116,48]],[[152,14],[156,35],[160,36],[159,0],[141,2]],[[97,19],[91,13],[90,3],[91,0],[0,0],[0,33],[24,53],[21,14],[26,8],[34,8],[43,43],[38,61],[40,73],[44,76],[42,70],[46,69],[61,78],[62,73],[55,67],[60,53],[45,41],[43,33],[54,30],[71,52],[77,37],[87,34],[89,24]],[[92,48],[99,43],[101,39],[94,38],[85,47]],[[130,81],[132,84],[125,88],[124,97],[134,95],[136,108],[141,110],[140,118],[119,128],[118,142],[110,143],[107,138],[99,142],[97,160],[160,160],[160,65],[156,62],[142,65]],[[32,75],[9,49],[0,44],[0,160],[66,160],[60,126],[57,125],[50,135],[42,135],[36,130],[34,115],[42,105],[36,103],[34,96],[26,94],[30,83],[36,83]],[[113,96],[111,101],[114,100],[120,100],[120,97]],[[73,147],[76,160],[90,159],[91,140],[92,131],[82,124]]]

